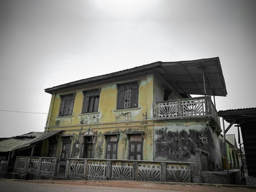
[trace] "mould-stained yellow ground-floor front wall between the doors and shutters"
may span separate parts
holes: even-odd
[[[111,123],[111,124],[97,124],[90,126],[81,127],[68,127],[62,136],[72,135],[71,138],[71,158],[79,158],[80,153],[82,153],[81,147],[83,143],[80,141],[81,133],[86,132],[90,127],[93,132],[97,132],[96,145],[95,145],[95,156],[96,159],[105,159],[105,150],[106,150],[106,138],[105,134],[118,134],[118,146],[117,146],[117,159],[128,159],[129,153],[129,134],[136,132],[144,132],[143,136],[143,160],[153,160],[153,123],[148,121],[142,122],[130,122],[130,123]],[[56,128],[51,128],[56,130]],[[58,128],[61,129],[61,128]],[[79,130],[80,129],[80,130]],[[51,130],[50,130],[51,131]],[[56,157],[61,157],[62,151],[62,139],[61,136],[58,138],[58,145],[56,150]],[[45,154],[48,154],[49,144],[45,146]],[[42,151],[41,151],[42,153]]]

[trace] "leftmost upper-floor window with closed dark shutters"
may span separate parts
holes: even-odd
[[[59,116],[72,115],[74,107],[75,95],[65,95],[61,96],[61,108]]]

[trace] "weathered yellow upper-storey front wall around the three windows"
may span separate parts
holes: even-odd
[[[153,102],[153,78],[152,74],[139,77],[139,97],[138,108],[116,110],[117,105],[117,82],[96,85],[92,87],[69,89],[56,94],[52,94],[49,114],[47,118],[46,128],[53,126],[69,126],[94,123],[109,123],[119,121],[134,121],[152,118],[152,102]],[[127,81],[131,79],[124,79]],[[81,114],[83,107],[83,91],[101,88],[98,113]],[[76,93],[73,116],[58,117],[61,94]]]

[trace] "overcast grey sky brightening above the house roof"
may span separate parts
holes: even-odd
[[[254,0],[0,0],[0,110],[48,113],[45,88],[209,57],[220,57],[228,92],[217,110],[256,107],[255,8]],[[46,117],[0,111],[0,137],[44,131]]]

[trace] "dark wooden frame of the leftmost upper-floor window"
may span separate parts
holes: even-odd
[[[76,96],[75,93],[68,93],[68,94],[60,95],[61,104],[60,104],[60,109],[59,109],[58,117],[70,116],[70,115],[73,114],[74,103],[75,103],[75,96]],[[66,99],[68,97],[70,97],[70,99]],[[69,101],[68,104],[67,104],[67,101]],[[71,101],[71,103],[70,103],[70,101]],[[70,108],[71,108],[70,106],[68,106],[68,107],[66,106],[66,105],[70,105],[70,104],[71,104],[72,110],[70,110]],[[67,114],[64,113],[66,108],[67,108],[67,110],[66,110]]]

